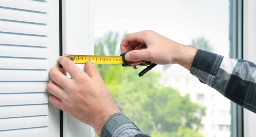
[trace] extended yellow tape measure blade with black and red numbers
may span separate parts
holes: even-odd
[[[123,64],[122,56],[72,55],[67,57],[77,64],[85,64],[90,60],[93,64]]]

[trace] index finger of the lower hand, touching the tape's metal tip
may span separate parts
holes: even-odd
[[[58,61],[59,64],[62,65],[62,67],[70,74],[72,78],[80,76],[84,73],[83,70],[81,70],[74,62],[65,56],[60,56]]]

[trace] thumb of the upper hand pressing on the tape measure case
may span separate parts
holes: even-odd
[[[141,61],[141,60],[146,60],[150,61],[148,58],[148,49],[142,49],[142,50],[132,50],[130,52],[127,52],[125,54],[125,59],[127,61]]]

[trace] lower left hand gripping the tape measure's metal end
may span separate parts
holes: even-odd
[[[72,115],[79,121],[100,132],[108,118],[120,112],[117,105],[91,61],[85,64],[88,75],[65,56],[58,59],[71,78],[63,74],[63,69],[53,67],[47,90],[48,100],[54,106]]]

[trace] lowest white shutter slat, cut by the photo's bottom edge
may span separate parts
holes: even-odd
[[[48,127],[0,131],[0,137],[48,137]]]

